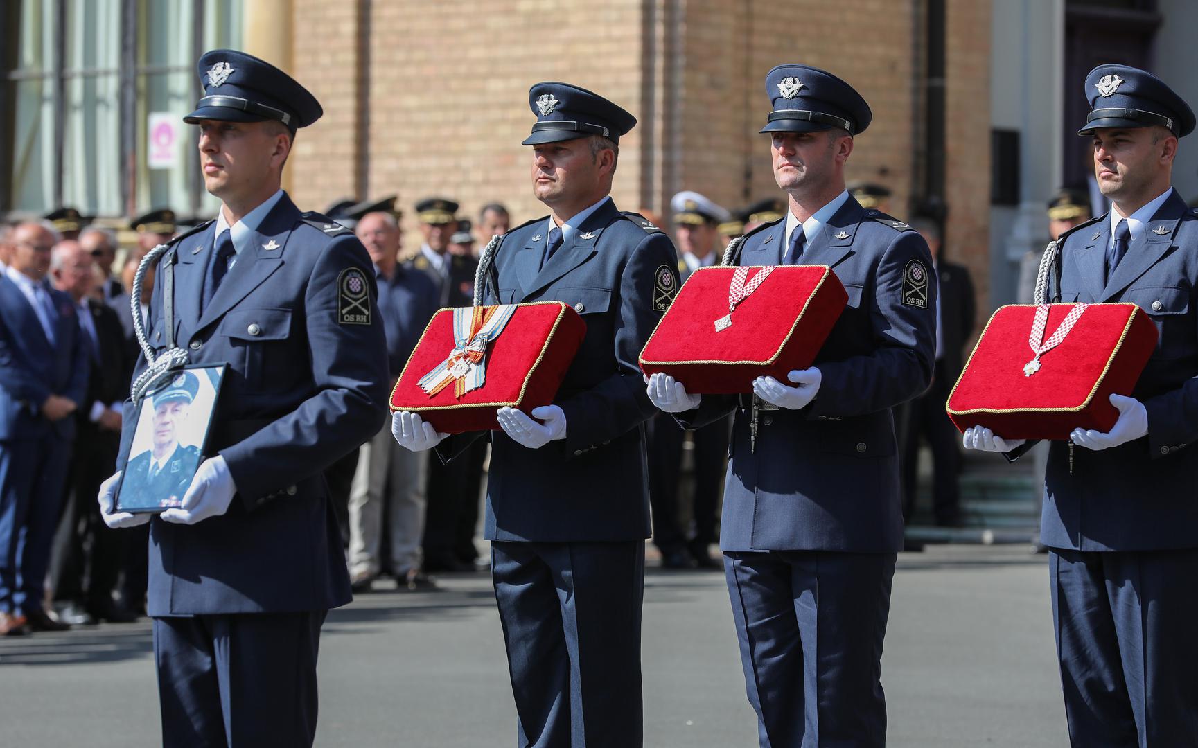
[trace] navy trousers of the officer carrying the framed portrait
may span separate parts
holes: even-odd
[[[163,747],[311,746],[326,614],[156,618]]]

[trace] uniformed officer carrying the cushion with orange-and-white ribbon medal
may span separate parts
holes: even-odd
[[[533,194],[551,214],[492,239],[483,300],[558,299],[587,333],[556,402],[532,418],[501,408],[503,431],[491,434],[486,537],[518,744],[637,748],[653,414],[637,357],[677,292],[677,256],[665,233],[609,196],[635,117],[562,83],[532,86],[528,104]],[[480,436],[442,443],[404,412],[392,428],[404,446],[440,444],[442,456]]]

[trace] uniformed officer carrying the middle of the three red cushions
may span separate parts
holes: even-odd
[[[738,402],[659,373],[649,396],[688,426],[736,412],[720,548],[762,747],[881,747],[879,661],[902,547],[890,408],[932,377],[932,259],[907,224],[845,189],[871,120],[858,92],[805,65],[775,67],[766,92],[774,110],[762,132],[789,205],[731,260],[830,266],[848,305],[815,365],[788,382],[760,377]]]

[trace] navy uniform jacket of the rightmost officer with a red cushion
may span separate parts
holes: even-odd
[[[1102,451],[1053,442],[1040,536],[1055,548],[1198,547],[1198,212],[1174,191],[1103,285],[1109,214],[1061,238],[1061,302],[1132,302],[1156,324],[1156,351],[1132,396],[1148,436]]]

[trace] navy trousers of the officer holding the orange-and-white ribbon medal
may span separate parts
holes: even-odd
[[[520,748],[640,748],[645,542],[491,542]]]

